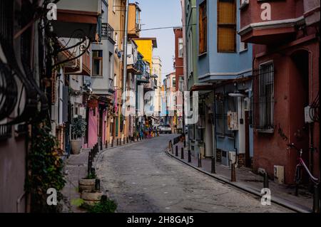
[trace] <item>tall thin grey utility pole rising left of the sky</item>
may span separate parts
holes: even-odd
[[[126,112],[126,99],[127,99],[127,40],[128,40],[128,0],[126,0],[126,10],[125,10],[125,29],[123,36],[123,115]],[[121,122],[123,124],[123,122]]]

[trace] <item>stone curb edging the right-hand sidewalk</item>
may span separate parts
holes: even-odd
[[[238,182],[231,182],[228,179],[226,179],[225,177],[220,176],[218,174],[210,174],[208,171],[205,171],[205,170],[200,169],[198,167],[194,167],[192,164],[184,162],[183,160],[179,159],[178,157],[175,157],[173,154],[170,154],[170,152],[168,152],[168,149],[165,149],[165,153],[169,157],[172,157],[172,158],[178,160],[179,162],[181,162],[183,164],[186,164],[187,166],[192,167],[193,169],[195,169],[197,171],[200,171],[203,174],[208,175],[208,176],[220,181],[220,183],[229,184],[230,186],[233,186],[233,187],[235,187],[237,189],[240,189],[242,191],[248,192],[249,194],[253,194],[255,196],[259,196],[259,197],[262,196],[262,194],[260,194],[260,191],[256,191],[255,189],[251,189],[251,188],[248,188],[246,186],[240,185],[240,184],[238,184]],[[305,206],[289,204],[289,202],[285,201],[285,199],[281,199],[281,198],[279,198],[277,196],[272,196],[271,202],[274,203],[274,204],[283,206],[285,208],[288,208],[288,209],[290,209],[292,211],[298,212],[298,213],[312,213],[312,209],[309,209],[309,208],[307,208]]]

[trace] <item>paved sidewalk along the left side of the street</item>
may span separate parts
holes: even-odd
[[[153,139],[153,138],[151,138]],[[96,167],[98,159],[101,158],[101,154],[110,149],[115,149],[117,147],[126,147],[129,144],[143,142],[145,139],[138,142],[128,142],[121,145],[115,145],[111,147],[108,144],[108,148],[103,147],[97,154],[93,167]],[[127,141],[126,141],[127,142]],[[65,167],[63,168],[63,173],[65,174],[66,185],[64,186],[61,193],[63,194],[63,213],[85,213],[86,211],[72,205],[72,201],[80,198],[80,193],[78,192],[78,179],[81,179],[87,174],[87,164],[88,164],[88,153],[91,149],[81,149],[80,154],[71,154],[65,161]],[[103,189],[102,189],[103,191]]]

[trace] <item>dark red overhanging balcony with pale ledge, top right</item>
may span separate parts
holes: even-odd
[[[250,0],[248,5],[240,8],[238,34],[241,36],[241,41],[270,45],[295,38],[296,27],[305,23],[300,2],[268,1],[270,9],[262,6],[263,4],[267,2]],[[264,16],[268,14],[264,14],[263,10],[269,11],[270,17]],[[262,13],[263,16],[261,16]]]

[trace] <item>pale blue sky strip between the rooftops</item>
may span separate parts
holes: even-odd
[[[142,29],[181,26],[180,0],[136,0],[141,8]],[[135,2],[131,0],[129,2]],[[175,36],[173,28],[142,31],[141,37],[156,37],[158,48],[154,56],[160,56],[163,67],[162,77],[172,73],[175,55]]]

